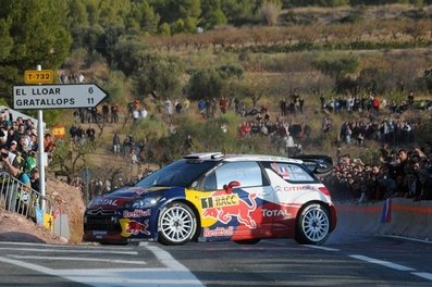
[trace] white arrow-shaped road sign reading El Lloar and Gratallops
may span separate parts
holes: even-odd
[[[95,84],[14,86],[16,110],[94,108],[108,93]]]

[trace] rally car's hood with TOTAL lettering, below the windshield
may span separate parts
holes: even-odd
[[[128,202],[137,200],[138,198],[141,198],[143,195],[145,195],[145,194],[163,192],[169,189],[172,189],[172,187],[150,187],[150,188],[122,187],[122,188],[119,188],[110,194],[94,198],[87,208],[88,209],[98,209],[98,208],[118,209],[118,208],[121,208],[122,205],[124,205],[125,203],[128,203]]]

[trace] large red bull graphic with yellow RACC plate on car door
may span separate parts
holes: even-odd
[[[213,217],[223,224],[227,224],[235,216],[240,224],[251,229],[257,228],[257,223],[250,216],[250,213],[257,209],[256,197],[256,194],[249,194],[249,204],[236,194],[215,191],[211,197],[201,199],[201,208],[205,210],[202,216]]]

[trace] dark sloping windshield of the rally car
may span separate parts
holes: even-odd
[[[217,161],[178,160],[150,174],[136,186],[146,188],[152,186],[190,187],[195,180],[217,164]]]

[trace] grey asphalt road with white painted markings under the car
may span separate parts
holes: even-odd
[[[432,244],[335,233],[321,247],[0,242],[0,286],[432,286]]]

